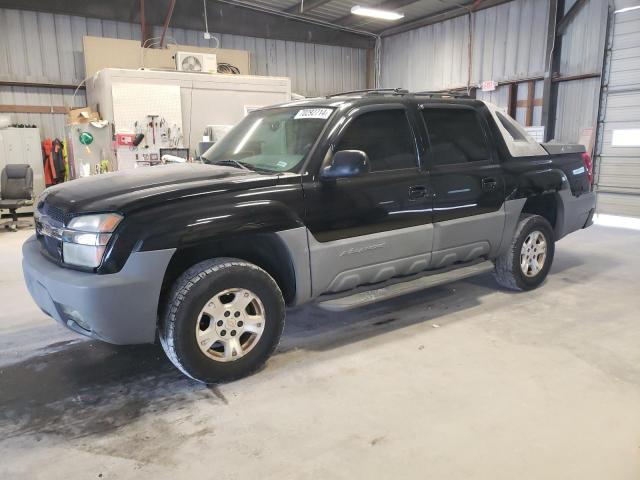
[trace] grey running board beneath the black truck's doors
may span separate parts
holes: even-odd
[[[350,310],[445,283],[474,277],[482,273],[490,272],[493,268],[493,262],[482,261],[465,267],[451,268],[444,272],[427,272],[415,280],[403,281],[402,279],[395,279],[395,283],[372,290],[358,291],[353,294],[343,292],[342,294],[323,295],[317,300],[318,306],[335,312]],[[323,297],[328,297],[328,299],[323,300]]]

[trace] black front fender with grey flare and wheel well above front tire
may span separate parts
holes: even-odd
[[[300,295],[307,296],[309,282],[304,276],[309,275],[309,256],[305,232],[296,212],[279,201],[248,201],[214,208],[203,208],[200,203],[193,210],[166,212],[163,222],[154,224],[139,237],[142,239],[134,250],[175,249],[164,274],[163,290],[202,260],[233,257],[254,263],[269,273],[280,286],[285,301],[292,304],[297,303]]]

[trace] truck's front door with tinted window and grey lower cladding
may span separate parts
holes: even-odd
[[[371,172],[303,182],[313,295],[349,290],[429,267],[433,229],[429,177],[402,104],[366,107],[332,139],[361,150]]]

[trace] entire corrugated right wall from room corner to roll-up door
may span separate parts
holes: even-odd
[[[567,0],[565,12],[574,3]],[[601,71],[607,8],[607,0],[588,0],[569,25],[562,40],[562,76]],[[513,0],[473,12],[470,57],[469,15],[384,37],[381,86],[419,91],[475,87],[484,80],[519,82],[518,100],[523,100],[526,81],[533,79],[538,101],[531,125],[540,125],[548,11],[548,0]],[[595,127],[599,85],[599,78],[560,83],[555,138],[576,142],[584,127]],[[476,96],[507,108],[509,85],[478,90]],[[524,109],[516,110],[523,124],[524,115]]]

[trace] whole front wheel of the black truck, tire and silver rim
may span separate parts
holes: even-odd
[[[241,378],[276,349],[285,306],[275,280],[235,258],[200,262],[176,280],[160,343],[184,374],[204,383]]]

